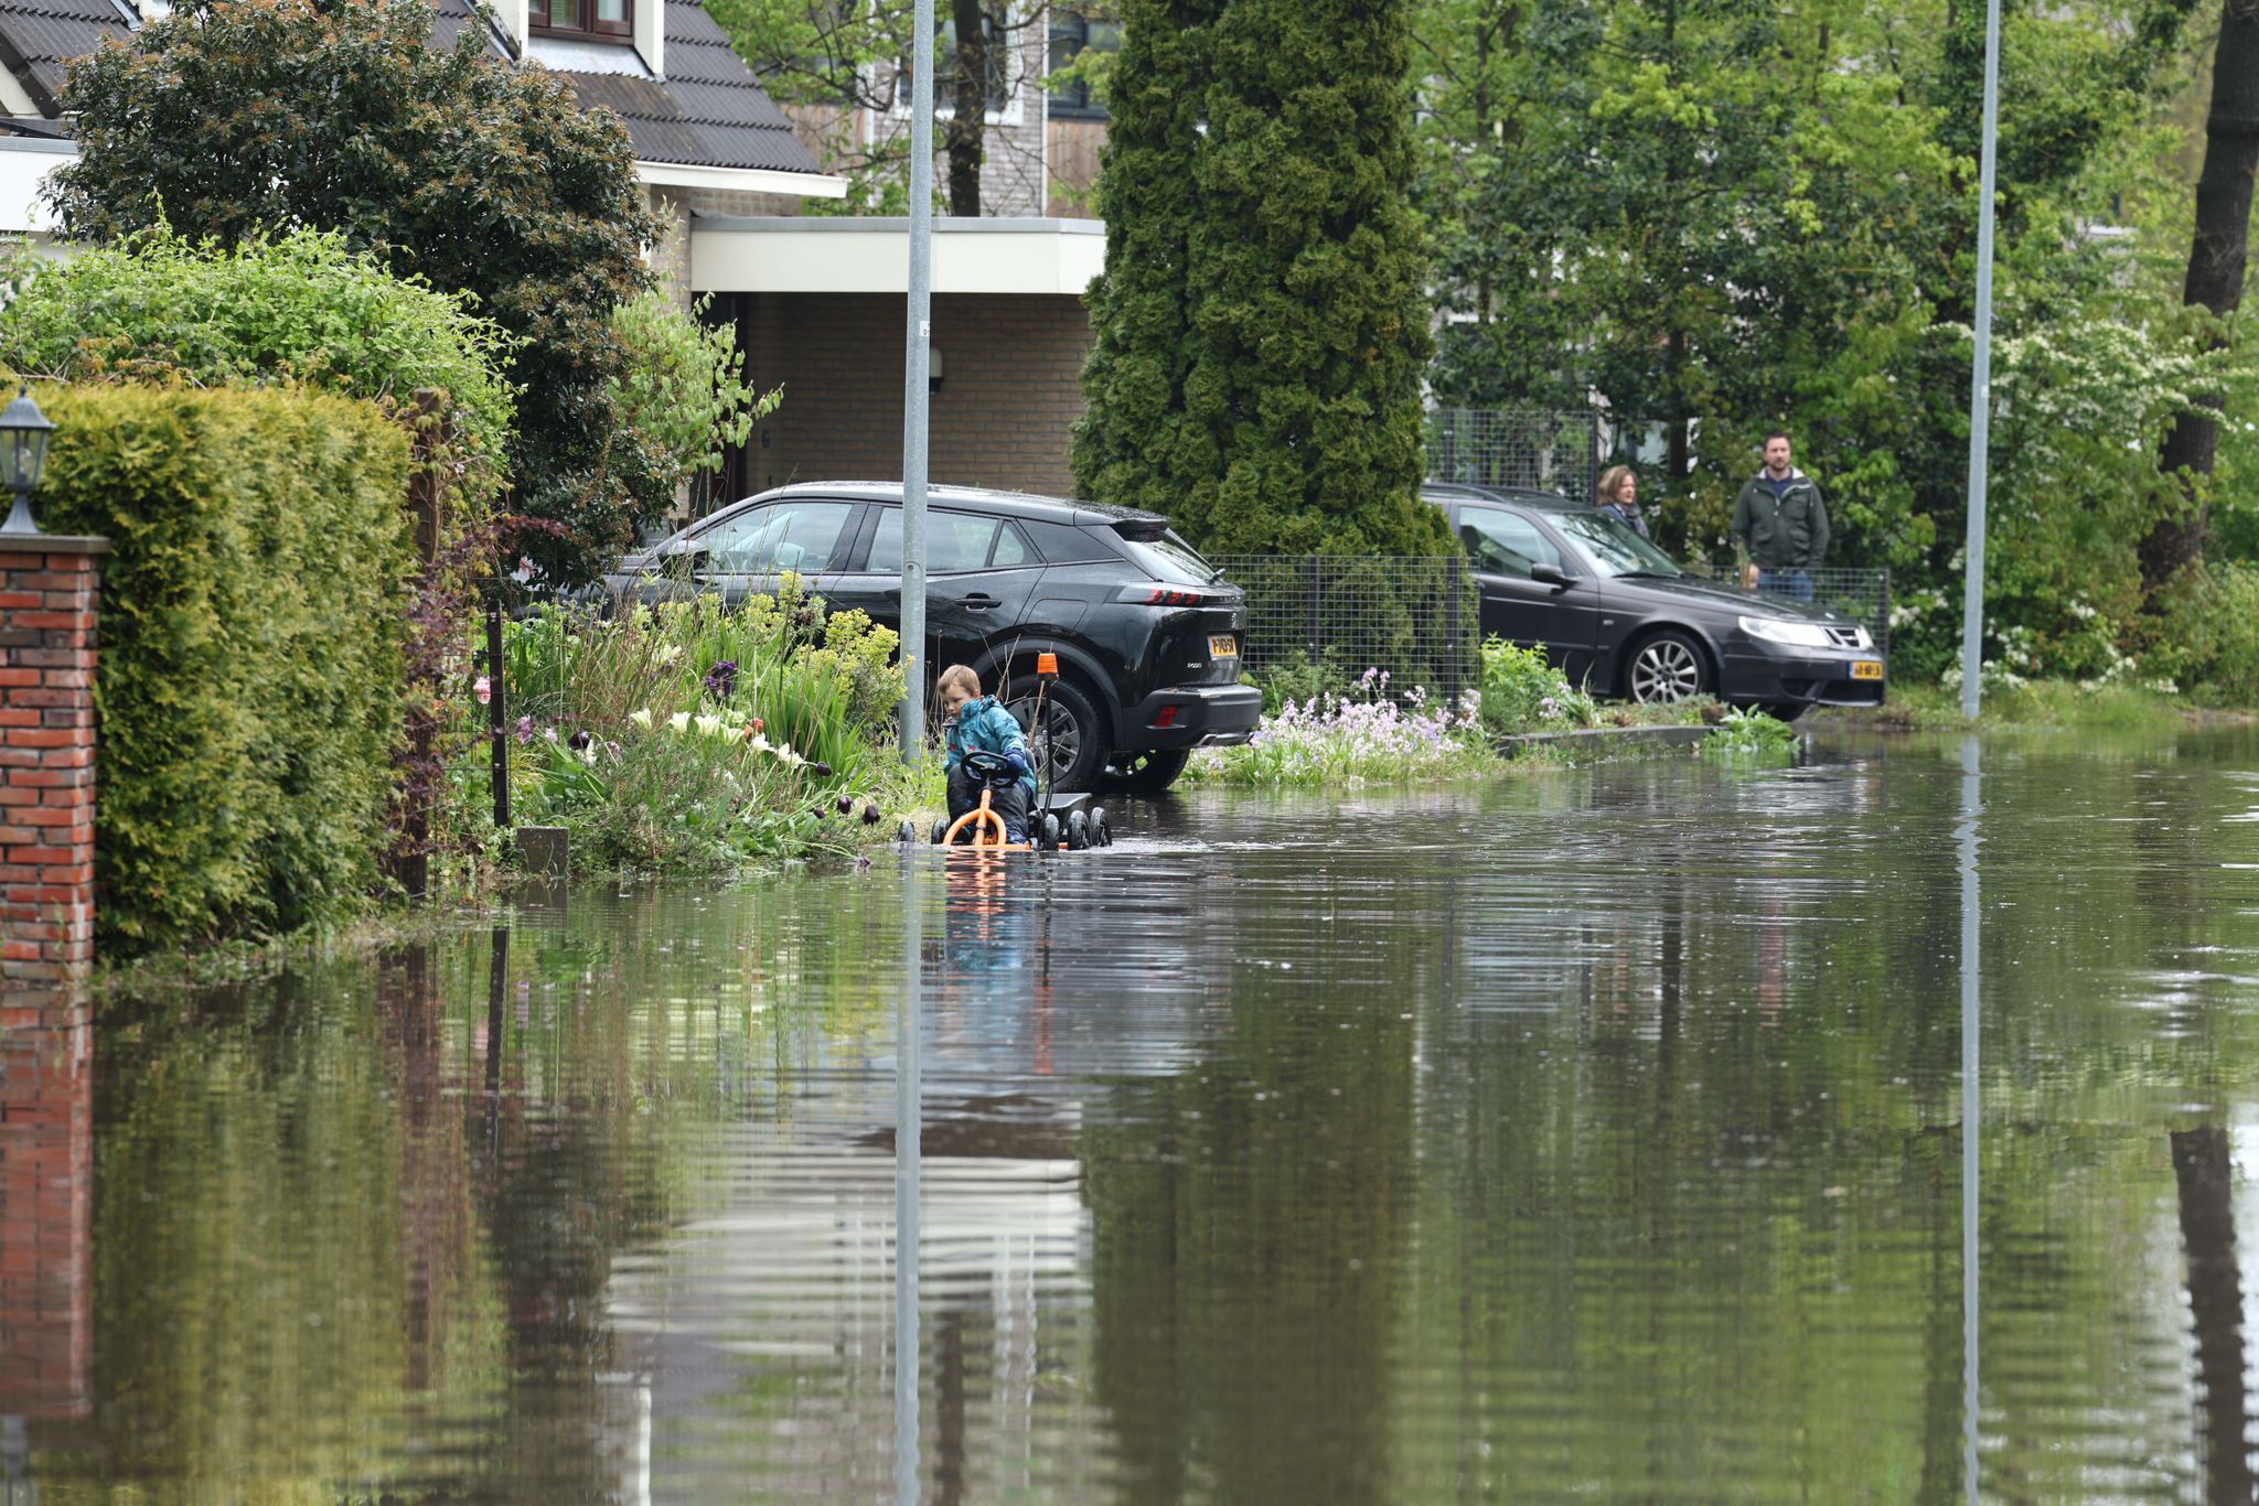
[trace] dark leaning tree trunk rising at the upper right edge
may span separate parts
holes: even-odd
[[[2250,246],[2252,172],[2259,169],[2259,0],[2225,0],[2221,45],[2212,59],[2212,115],[2205,120],[2205,172],[2196,181],[2196,239],[2182,303],[2216,316],[2243,303],[2243,260]],[[2218,409],[2218,397],[2198,397]],[[2182,413],[2164,436],[2157,467],[2184,474],[2187,506],[2157,519],[2142,540],[2142,585],[2155,589],[2205,553],[2205,506],[2198,494],[2212,474],[2221,427],[2209,413]]]

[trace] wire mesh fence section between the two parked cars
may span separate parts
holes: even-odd
[[[1387,671],[1389,691],[1457,695],[1482,677],[1464,555],[1209,555],[1247,594],[1240,664],[1261,684],[1342,684]]]

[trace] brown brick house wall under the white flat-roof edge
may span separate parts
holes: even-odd
[[[718,305],[718,300],[716,300]],[[739,345],[784,406],[755,424],[723,499],[788,481],[901,476],[899,294],[741,294]],[[1069,494],[1091,321],[1066,294],[935,294],[942,388],[931,402],[933,481]]]

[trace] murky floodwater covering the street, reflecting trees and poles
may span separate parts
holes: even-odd
[[[2259,734],[1123,826],[11,1000],[0,1499],[2250,1499]]]

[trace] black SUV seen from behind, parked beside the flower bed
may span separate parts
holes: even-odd
[[[605,573],[617,596],[691,585],[739,603],[793,571],[901,628],[901,483],[809,481],[730,504]],[[926,490],[926,675],[969,664],[1021,725],[1035,655],[1059,655],[1030,729],[1057,790],[1159,793],[1193,747],[1245,743],[1247,603],[1157,513],[960,485]],[[926,704],[933,700],[928,695]]]

